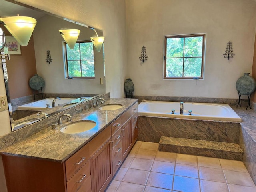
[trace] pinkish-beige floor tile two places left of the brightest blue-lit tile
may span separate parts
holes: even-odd
[[[135,183],[140,185],[146,185],[148,180],[149,171],[143,171],[138,169],[128,169],[122,181]]]

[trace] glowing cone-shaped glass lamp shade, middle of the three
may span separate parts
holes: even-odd
[[[74,49],[78,36],[80,35],[80,30],[78,29],[66,29],[59,30],[61,36],[67,42],[70,49]]]

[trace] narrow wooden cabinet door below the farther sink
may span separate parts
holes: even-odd
[[[122,127],[122,160],[126,158],[132,148],[132,118]]]

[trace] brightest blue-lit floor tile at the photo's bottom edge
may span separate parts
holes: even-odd
[[[173,190],[182,192],[200,192],[199,179],[175,175]]]

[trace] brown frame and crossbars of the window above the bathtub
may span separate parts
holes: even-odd
[[[205,54],[205,33],[202,34],[185,34],[185,35],[166,35],[164,36],[164,79],[203,79],[204,78],[204,54]],[[167,52],[167,39],[169,38],[185,38],[187,37],[202,37],[202,62],[201,62],[201,76],[200,77],[184,77],[184,58],[201,58],[201,57],[184,57],[184,47],[185,43],[183,45],[183,57],[177,57],[177,58],[183,58],[183,71],[182,71],[182,77],[166,77],[166,52]],[[176,58],[176,57],[173,57]]]

